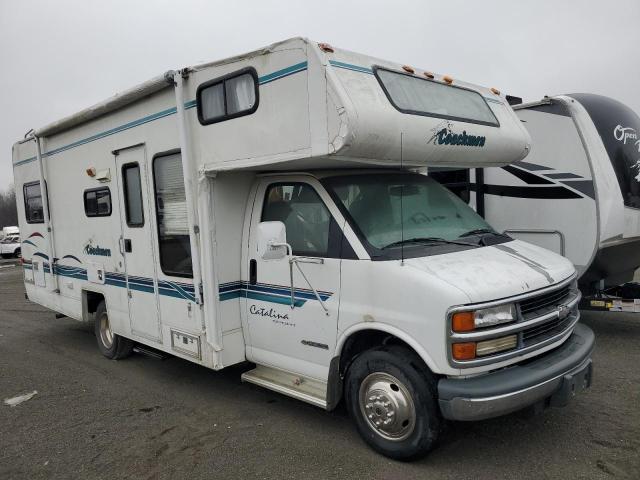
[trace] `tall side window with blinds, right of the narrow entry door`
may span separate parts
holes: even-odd
[[[153,179],[160,267],[167,275],[192,277],[187,200],[180,153],[156,156],[153,160]]]

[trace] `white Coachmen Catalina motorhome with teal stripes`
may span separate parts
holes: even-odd
[[[306,39],[167,72],[15,144],[26,292],[414,458],[590,384],[571,263],[413,172],[529,142],[497,90]]]

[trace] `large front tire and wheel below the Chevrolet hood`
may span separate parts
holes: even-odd
[[[360,436],[379,453],[402,461],[422,457],[436,445],[443,424],[436,392],[424,362],[400,346],[362,353],[345,381],[347,409]]]

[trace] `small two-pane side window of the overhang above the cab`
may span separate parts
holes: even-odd
[[[202,125],[250,115],[258,108],[258,74],[246,68],[203,83],[196,102]]]

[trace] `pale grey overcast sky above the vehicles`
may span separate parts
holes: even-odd
[[[639,0],[0,0],[0,190],[30,128],[293,36],[525,101],[592,92],[640,112]]]

